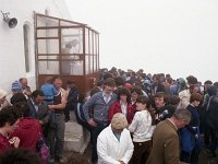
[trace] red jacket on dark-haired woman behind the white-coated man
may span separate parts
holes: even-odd
[[[128,109],[126,119],[128,119],[128,122],[131,124],[132,120],[133,120],[133,116],[134,116],[134,110],[133,110],[132,104],[128,104],[128,108],[126,109]],[[117,114],[117,113],[122,113],[121,105],[120,105],[119,101],[114,102],[109,108],[108,116],[109,116],[109,120],[110,121],[112,119],[112,116],[114,114]]]

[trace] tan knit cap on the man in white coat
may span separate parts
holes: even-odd
[[[128,120],[125,116],[121,113],[117,113],[113,115],[111,120],[111,127],[113,129],[124,129],[128,127]]]

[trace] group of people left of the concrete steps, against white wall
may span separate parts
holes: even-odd
[[[64,117],[64,112],[70,101],[61,78],[47,77],[40,90],[33,92],[27,79],[22,78],[12,83],[10,99],[7,95],[0,90],[0,154],[3,156],[10,149],[22,148],[36,153],[40,163],[65,163],[63,144],[68,115]],[[48,147],[47,159],[40,150],[43,145]]]

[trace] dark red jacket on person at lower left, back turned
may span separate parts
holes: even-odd
[[[33,117],[24,117],[19,121],[19,127],[14,130],[11,137],[20,138],[20,147],[35,151],[39,132],[41,132],[39,121]]]

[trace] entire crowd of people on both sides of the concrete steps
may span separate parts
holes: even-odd
[[[12,83],[10,99],[0,89],[0,156],[14,149],[37,154],[41,133],[50,151],[46,161],[38,153],[41,162],[66,163],[65,122],[74,110],[90,132],[94,164],[197,164],[203,148],[216,156],[217,89],[218,82],[202,84],[194,75],[174,80],[142,69],[102,69],[88,93],[80,93],[73,81],[63,89],[59,77],[47,77],[32,92],[21,78]]]

